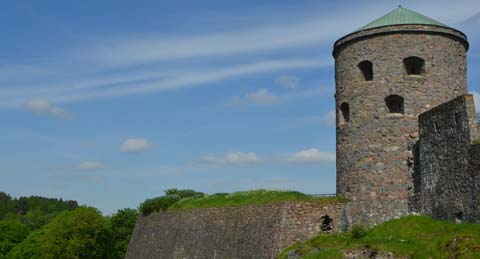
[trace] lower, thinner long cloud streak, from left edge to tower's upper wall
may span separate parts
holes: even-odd
[[[108,81],[104,81],[96,86],[91,85],[91,87],[88,89],[65,89],[52,87],[50,90],[42,90],[40,94],[32,92],[23,93],[20,96],[15,95],[15,93],[10,93],[10,95],[4,95],[0,93],[0,101],[2,101],[0,102],[0,108],[15,107],[16,105],[25,103],[26,99],[32,99],[37,95],[40,95],[40,97],[42,97],[44,100],[49,100],[49,102],[54,103],[75,102],[113,96],[172,91],[257,73],[281,71],[286,69],[315,68],[329,66],[331,64],[332,62],[330,60],[270,60],[252,64],[236,65],[229,68],[200,70],[197,72],[179,74],[166,79],[152,79],[149,77],[144,80],[146,82],[142,82],[142,80],[127,80],[120,83],[121,80],[119,80],[119,78],[112,78],[112,80],[115,80],[114,86],[111,86]],[[119,77],[122,78],[124,75],[120,75]]]

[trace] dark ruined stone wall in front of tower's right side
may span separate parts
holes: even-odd
[[[473,96],[463,95],[420,115],[415,187],[420,213],[434,218],[479,222],[480,194]],[[474,126],[474,127],[473,127]]]

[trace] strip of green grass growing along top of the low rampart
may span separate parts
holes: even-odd
[[[284,201],[345,202],[343,197],[314,197],[295,191],[252,190],[182,199],[168,210],[271,204]]]

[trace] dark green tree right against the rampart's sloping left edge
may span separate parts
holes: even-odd
[[[119,210],[110,218],[110,258],[125,258],[128,243],[138,218],[134,209]]]

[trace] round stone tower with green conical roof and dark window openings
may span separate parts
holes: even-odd
[[[418,115],[467,93],[466,36],[399,7],[334,44],[337,194],[354,223],[409,212]]]

